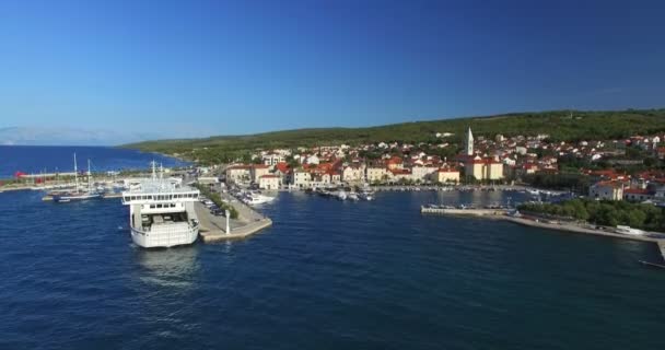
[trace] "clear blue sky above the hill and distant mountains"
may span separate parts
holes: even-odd
[[[488,4],[491,2],[491,4]],[[0,127],[665,107],[664,1],[0,1]]]

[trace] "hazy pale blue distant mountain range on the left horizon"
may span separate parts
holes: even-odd
[[[0,128],[1,145],[117,145],[160,138],[160,135],[78,128]]]

